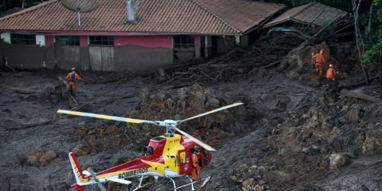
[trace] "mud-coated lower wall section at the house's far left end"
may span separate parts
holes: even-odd
[[[3,43],[3,57],[16,69],[45,68],[45,46]]]

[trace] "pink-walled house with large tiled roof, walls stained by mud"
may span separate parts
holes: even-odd
[[[285,8],[243,0],[96,2],[77,14],[50,0],[0,18],[0,61],[18,69],[150,71],[246,47]],[[131,2],[139,9],[128,21]]]

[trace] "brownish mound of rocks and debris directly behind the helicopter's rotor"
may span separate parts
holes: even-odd
[[[253,102],[245,100],[248,97],[231,98],[225,92],[204,89],[198,84],[180,88],[177,91],[160,91],[156,94],[143,90],[140,92],[139,99],[140,103],[126,111],[123,117],[152,121],[181,120],[234,102],[247,102],[245,106],[187,121],[179,126],[190,134],[199,134],[202,141],[211,146],[219,146],[224,138],[233,137],[254,128],[247,124],[259,117]],[[107,127],[77,126],[72,130],[71,135],[79,135],[75,139],[87,140],[78,149],[76,155],[105,151],[120,145],[141,150],[151,138],[162,135],[165,131],[164,128],[150,124],[110,123]]]

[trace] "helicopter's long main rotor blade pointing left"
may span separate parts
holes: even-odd
[[[155,121],[131,119],[131,118],[124,118],[124,117],[116,117],[116,116],[106,116],[106,115],[91,114],[91,113],[84,113],[84,112],[73,112],[73,111],[68,111],[68,110],[58,110],[57,113],[74,115],[74,116],[92,117],[92,118],[98,118],[98,119],[107,119],[107,120],[113,120],[113,121],[123,121],[123,122],[129,122],[129,123],[152,123],[152,124],[155,124]]]

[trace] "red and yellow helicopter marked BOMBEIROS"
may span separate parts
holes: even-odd
[[[84,112],[58,110],[57,113],[60,114],[123,121],[128,123],[149,123],[166,127],[166,133],[164,135],[150,139],[148,146],[144,148],[144,152],[146,153],[145,156],[125,162],[122,165],[98,173],[95,173],[92,169],[89,171],[82,171],[76,157],[74,156],[74,153],[70,152],[69,160],[76,180],[76,183],[72,184],[71,187],[76,187],[77,191],[84,191],[86,185],[97,184],[102,191],[105,191],[106,188],[102,183],[112,181],[128,184],[128,188],[130,189],[132,182],[126,180],[126,178],[139,178],[140,182],[134,189],[139,190],[151,184],[143,184],[143,180],[149,177],[154,177],[155,181],[157,181],[159,177],[170,179],[173,183],[175,191],[186,186],[191,186],[191,190],[195,190],[194,184],[196,182],[201,182],[200,187],[204,187],[210,180],[211,176],[202,178],[200,180],[191,179],[189,177],[193,171],[191,156],[196,146],[201,148],[201,159],[199,160],[199,166],[201,169],[204,169],[211,162],[212,155],[210,151],[216,150],[211,146],[203,143],[202,141],[196,139],[192,135],[180,130],[177,128],[177,125],[188,120],[199,118],[214,112],[226,110],[227,108],[241,104],[243,103],[233,103],[203,114],[177,121],[148,121]],[[180,134],[176,134],[175,131],[178,131]],[[190,182],[181,186],[177,186],[174,178],[178,177],[187,177]]]

